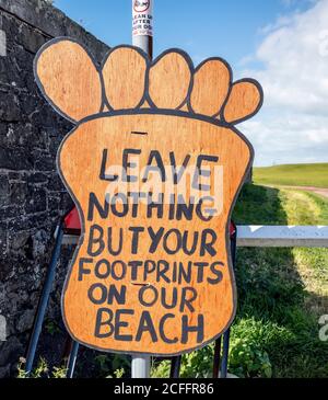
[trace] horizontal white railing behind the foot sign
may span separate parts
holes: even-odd
[[[239,248],[328,248],[328,227],[238,226]],[[77,236],[66,235],[63,244],[77,244]]]

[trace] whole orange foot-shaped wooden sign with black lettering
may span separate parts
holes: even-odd
[[[62,294],[72,338],[153,355],[213,341],[235,316],[229,225],[253,162],[234,125],[258,112],[260,85],[177,49],[151,62],[120,46],[97,68],[67,38],[39,50],[35,76],[77,124],[57,160],[83,226]]]

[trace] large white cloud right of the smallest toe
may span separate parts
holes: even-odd
[[[328,0],[265,31],[255,56],[263,68],[243,71],[265,90],[262,111],[241,126],[256,164],[328,162]]]

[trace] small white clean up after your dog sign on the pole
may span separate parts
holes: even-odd
[[[133,36],[153,36],[152,0],[132,0]]]

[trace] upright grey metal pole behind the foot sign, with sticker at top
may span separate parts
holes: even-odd
[[[132,44],[153,58],[153,0],[132,0]],[[150,377],[150,356],[132,355],[132,378]]]

